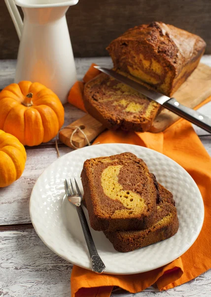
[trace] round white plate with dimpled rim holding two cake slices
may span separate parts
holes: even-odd
[[[80,173],[86,159],[130,151],[141,157],[158,182],[174,194],[179,230],[165,241],[128,253],[116,251],[103,232],[91,233],[105,273],[134,274],[172,262],[198,237],[204,220],[204,204],[192,177],[167,156],[140,146],[102,144],[78,150],[53,162],[37,179],[30,198],[30,215],[36,233],[55,253],[78,266],[91,269],[89,253],[75,206],[65,196],[65,178],[76,178],[81,192]],[[88,219],[88,214],[85,209]]]

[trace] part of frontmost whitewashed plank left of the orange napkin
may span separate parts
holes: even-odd
[[[34,229],[0,232],[0,296],[70,297],[72,264],[46,247]]]

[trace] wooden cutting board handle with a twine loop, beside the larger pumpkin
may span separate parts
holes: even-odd
[[[70,148],[83,148],[87,145],[87,140],[84,135],[77,130],[76,133],[72,136],[72,144],[70,143],[70,137],[75,130],[76,127],[80,127],[80,129],[85,133],[89,142],[93,141],[101,132],[103,132],[106,128],[96,119],[94,119],[91,115],[86,114],[82,118],[74,121],[64,129],[62,129],[59,133],[59,139],[66,146]]]

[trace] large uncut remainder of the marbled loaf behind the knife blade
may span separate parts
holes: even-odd
[[[197,35],[153,22],[127,30],[107,50],[117,70],[172,96],[197,67],[205,47]]]

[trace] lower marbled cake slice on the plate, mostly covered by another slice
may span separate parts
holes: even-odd
[[[159,192],[162,200],[157,207],[156,221],[150,228],[141,231],[104,232],[117,251],[132,251],[176,234],[179,222],[173,195],[161,185]]]

